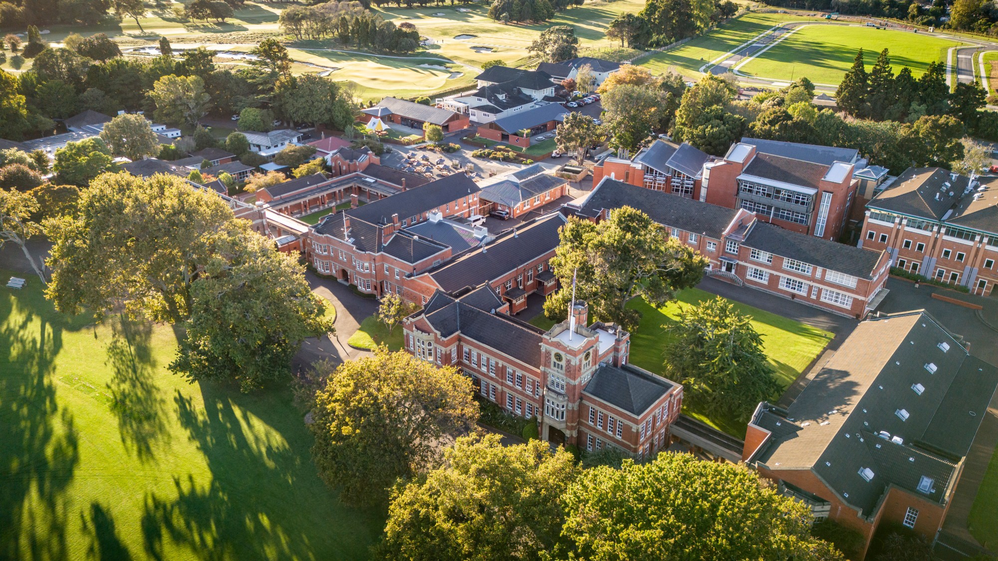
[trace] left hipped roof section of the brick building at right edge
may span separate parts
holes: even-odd
[[[890,187],[867,203],[866,207],[941,221],[969,182],[968,178],[951,174],[942,168],[908,168]]]

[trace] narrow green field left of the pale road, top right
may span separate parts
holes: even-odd
[[[700,72],[702,66],[769,30],[777,23],[810,20],[818,21],[818,18],[750,12],[719,26],[707,35],[695,37],[679,48],[642,59],[640,65],[648,67],[653,74],[662,74],[670,67],[674,67],[684,76],[697,78],[703,76]]]

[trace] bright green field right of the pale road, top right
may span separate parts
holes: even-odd
[[[883,49],[890,52],[896,74],[907,66],[917,78],[933,62],[945,62],[946,51],[958,43],[927,34],[865,26],[810,25],[799,28],[771,49],[736,69],[745,75],[792,81],[806,76],[815,84],[835,86],[862,48],[867,70]]]

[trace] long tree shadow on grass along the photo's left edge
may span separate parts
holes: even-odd
[[[63,493],[79,463],[73,415],[56,400],[61,317],[40,290],[0,294],[0,559],[66,559]]]

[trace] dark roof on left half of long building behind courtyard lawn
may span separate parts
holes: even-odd
[[[582,204],[582,214],[596,217],[604,209],[631,207],[672,228],[721,240],[738,211],[662,191],[604,178]]]

